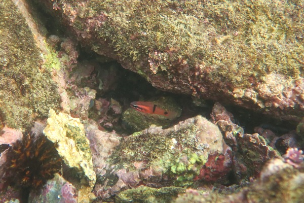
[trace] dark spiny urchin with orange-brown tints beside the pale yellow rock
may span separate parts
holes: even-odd
[[[23,135],[22,140],[14,143],[6,154],[6,163],[3,165],[5,185],[37,189],[52,179],[61,168],[56,145],[43,134],[38,137]]]

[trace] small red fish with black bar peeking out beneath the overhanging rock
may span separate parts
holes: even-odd
[[[176,117],[176,113],[161,109],[151,101],[133,101],[130,106],[142,113],[162,115],[169,119]]]

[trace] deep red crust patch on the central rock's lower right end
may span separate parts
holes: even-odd
[[[228,161],[227,161],[228,160]],[[195,181],[218,181],[226,178],[231,171],[230,154],[209,154],[207,163],[201,168],[200,174],[194,178]]]

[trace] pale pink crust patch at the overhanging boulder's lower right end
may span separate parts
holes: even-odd
[[[235,102],[244,107],[261,109],[266,114],[299,121],[300,116],[292,114],[303,115],[300,112],[304,111],[304,79],[294,81],[272,73],[265,76],[264,81],[257,83],[256,87],[235,88],[233,96]]]

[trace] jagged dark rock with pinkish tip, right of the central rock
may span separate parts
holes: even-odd
[[[267,138],[258,133],[244,134],[243,128],[233,123],[233,115],[219,103],[215,103],[213,107],[211,120],[219,127],[224,141],[232,148],[236,183],[258,177],[265,162],[280,157],[280,153],[269,146]]]

